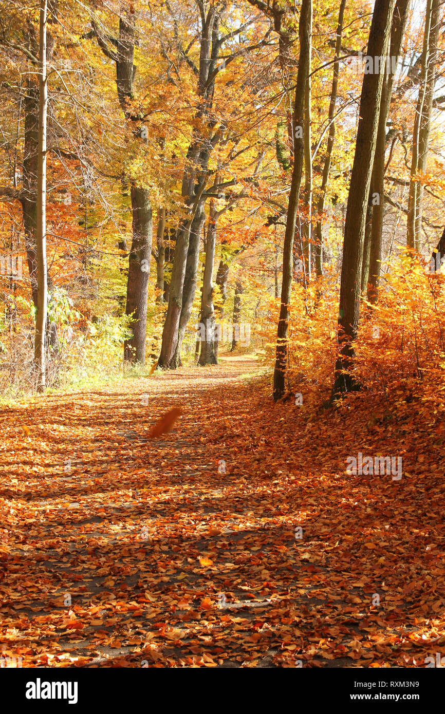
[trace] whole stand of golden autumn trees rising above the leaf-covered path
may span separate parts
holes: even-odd
[[[45,356],[57,361],[74,314],[81,340],[110,321],[107,344],[123,344],[126,363],[144,363],[150,346],[166,369],[181,365],[183,343],[191,351],[196,323],[196,361],[216,364],[216,322],[249,315],[261,323],[254,343],[264,321],[278,321],[276,341],[266,339],[277,400],[291,388],[289,340],[336,301],[337,268],[332,398],[359,388],[362,296],[385,300],[381,265],[399,256],[405,218],[407,246],[423,253],[443,228],[440,0],[428,0],[425,28],[409,0],[377,0],[372,20],[366,0],[339,0],[335,11],[311,0],[135,2],[116,12],[46,3],[41,84],[42,2],[12,11],[0,0],[0,258],[6,265],[23,246],[29,273],[10,294],[1,274],[0,301],[5,319],[22,309],[34,328],[36,318],[39,389],[53,383]],[[391,71],[383,62],[360,76],[366,40],[367,56],[389,54]],[[301,299],[303,314],[291,312]]]

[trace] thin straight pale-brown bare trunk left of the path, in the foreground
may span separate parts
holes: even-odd
[[[37,205],[36,205],[36,256],[37,256],[37,313],[34,343],[34,366],[37,391],[43,392],[46,378],[46,310],[48,288],[46,284],[46,113],[48,86],[46,84],[46,10],[47,1],[40,4],[39,29],[39,137],[37,152]]]

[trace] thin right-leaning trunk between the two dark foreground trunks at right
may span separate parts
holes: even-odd
[[[331,158],[332,149],[334,147],[335,139],[335,105],[337,101],[337,88],[339,86],[339,58],[341,52],[341,34],[343,33],[343,18],[344,18],[344,8],[346,6],[346,0],[341,0],[339,9],[339,22],[337,24],[336,31],[336,42],[335,42],[335,54],[334,54],[334,73],[332,76],[332,89],[331,89],[331,101],[329,102],[329,133],[328,133],[328,143],[326,147],[326,156],[324,157],[323,166],[323,176],[321,178],[321,188],[320,188],[320,198],[317,206],[317,222],[316,222],[316,253],[315,253],[315,266],[316,274],[323,275],[323,218],[322,214],[324,212],[324,202],[326,201],[326,191],[329,181],[329,171],[331,170]]]

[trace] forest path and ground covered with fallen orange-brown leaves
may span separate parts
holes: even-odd
[[[445,655],[443,415],[403,390],[336,409],[270,393],[239,357],[1,408],[0,655],[139,668]],[[403,477],[346,474],[359,451],[403,456]]]

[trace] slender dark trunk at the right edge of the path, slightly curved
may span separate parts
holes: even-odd
[[[300,55],[298,73],[296,76],[294,130],[298,130],[299,128],[303,129],[304,124],[304,94],[306,90],[306,81],[309,75],[309,31],[311,27],[311,16],[311,0],[302,0],[299,20]],[[289,192],[286,231],[284,233],[281,308],[276,336],[276,359],[274,369],[274,401],[284,395],[286,362],[289,352],[287,327],[289,324],[289,302],[291,299],[292,247],[294,244],[295,223],[299,205],[301,174],[303,172],[304,139],[302,134],[302,131],[295,131],[294,166],[292,169],[291,190]]]

